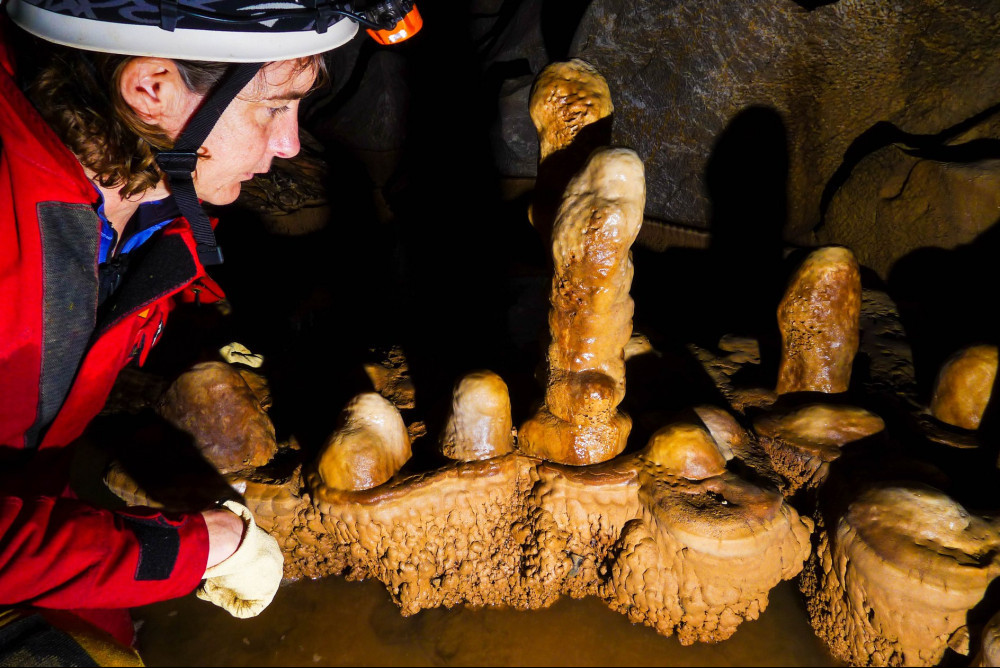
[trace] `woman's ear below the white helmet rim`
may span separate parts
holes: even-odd
[[[122,68],[118,87],[140,120],[160,128],[171,139],[177,138],[201,100],[188,89],[177,64],[168,58],[133,58]]]

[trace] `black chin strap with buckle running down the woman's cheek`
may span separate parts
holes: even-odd
[[[174,142],[174,147],[169,151],[160,151],[156,156],[156,164],[167,175],[177,208],[191,225],[191,232],[197,244],[198,259],[206,267],[222,264],[222,249],[215,241],[212,224],[202,209],[194,189],[198,149],[230,102],[263,66],[264,63],[239,63],[230,67],[219,85],[206,96],[204,102],[194,112],[184,131]]]

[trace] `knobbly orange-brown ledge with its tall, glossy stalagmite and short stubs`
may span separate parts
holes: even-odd
[[[455,386],[440,437],[452,462],[436,470],[401,470],[406,426],[369,393],[312,465],[235,481],[285,551],[287,576],[376,578],[404,614],[598,596],[685,644],[728,638],[766,608],[807,558],[812,523],[728,470],[747,438],[735,419],[702,406],[618,456],[631,427],[618,405],[644,197],[641,161],[618,148],[595,151],[566,188],[545,402],[517,449],[507,386],[481,371]]]

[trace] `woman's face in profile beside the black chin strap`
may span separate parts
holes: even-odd
[[[316,72],[281,61],[261,70],[223,112],[205,139],[195,170],[198,197],[229,204],[243,181],[271,168],[271,160],[299,152],[299,102],[312,88]],[[186,91],[184,107],[193,114],[202,97]]]

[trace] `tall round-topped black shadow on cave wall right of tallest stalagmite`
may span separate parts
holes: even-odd
[[[788,262],[781,232],[787,218],[788,140],[781,116],[766,107],[737,114],[718,137],[705,183],[712,206],[708,249],[637,247],[637,320],[669,346],[715,349],[724,334],[760,341],[761,377],[773,387],[775,310]]]

